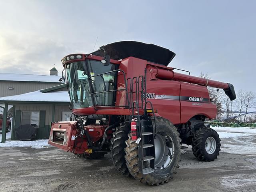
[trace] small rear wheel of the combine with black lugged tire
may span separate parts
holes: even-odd
[[[211,128],[201,128],[192,138],[192,152],[200,161],[214,161],[220,152],[220,137]]]

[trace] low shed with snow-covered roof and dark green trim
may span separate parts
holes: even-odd
[[[25,94],[0,98],[0,103],[13,106],[12,140],[16,140],[16,128],[20,125],[36,126],[36,138],[49,138],[51,122],[70,120],[70,98],[66,84]]]

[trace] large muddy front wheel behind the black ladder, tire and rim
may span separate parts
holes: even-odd
[[[140,182],[148,185],[159,185],[168,182],[173,173],[176,173],[176,167],[180,158],[180,138],[176,127],[168,120],[156,117],[157,135],[155,139],[155,169],[150,174],[143,175],[138,168],[138,144],[131,139],[126,141],[126,165],[130,174]],[[164,142],[163,139],[165,140]],[[160,141],[160,142],[159,142]],[[166,146],[161,146],[156,143],[164,143]],[[159,148],[161,146],[162,148]],[[162,150],[162,151],[161,151]],[[166,151],[168,150],[168,151]],[[163,156],[167,157],[163,159]],[[164,158],[165,158],[164,157]],[[167,162],[167,163],[166,163]],[[145,164],[145,163],[144,163]],[[148,165],[146,165],[147,167]]]

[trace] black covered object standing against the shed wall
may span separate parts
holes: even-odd
[[[26,124],[15,129],[16,138],[19,140],[36,139],[36,127]]]

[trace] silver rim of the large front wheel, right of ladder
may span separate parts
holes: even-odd
[[[174,144],[170,136],[162,136],[161,134],[156,134],[154,140],[155,147],[155,169],[163,170],[170,166],[172,163],[172,158],[174,156]]]

